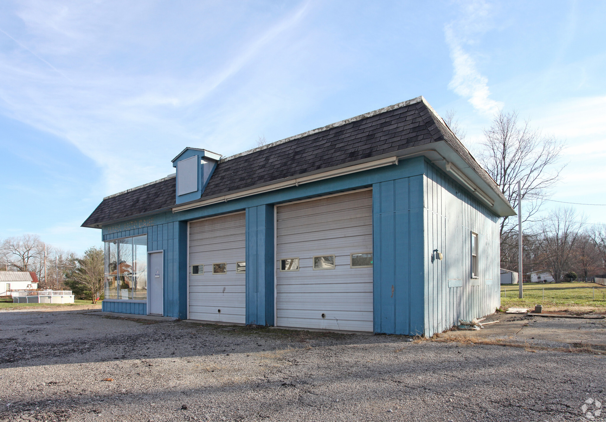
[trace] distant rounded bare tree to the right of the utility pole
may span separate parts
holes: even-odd
[[[584,224],[574,208],[555,209],[542,221],[541,248],[554,280],[561,281],[570,269]]]

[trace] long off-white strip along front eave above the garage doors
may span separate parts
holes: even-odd
[[[199,201],[197,203],[187,204],[181,207],[173,207],[173,213],[190,210],[193,208],[204,207],[207,205],[232,201],[233,199],[244,198],[245,196],[271,192],[272,190],[284,189],[285,187],[299,186],[301,184],[330,179],[337,176],[344,176],[351,173],[364,172],[365,170],[377,169],[379,167],[391,166],[391,164],[398,164],[398,157],[389,157],[378,159],[375,161],[363,162],[362,164],[356,164],[355,166],[351,167],[344,167],[343,169],[330,170],[328,172],[317,173],[315,175],[310,176],[302,176],[300,178],[290,179],[284,182],[278,182],[269,186],[262,186],[257,187],[255,189],[244,190],[243,192],[229,193],[228,195],[219,196],[218,198],[207,199],[206,201]]]

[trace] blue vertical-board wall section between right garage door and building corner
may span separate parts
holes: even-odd
[[[377,333],[423,333],[423,176],[373,184]]]

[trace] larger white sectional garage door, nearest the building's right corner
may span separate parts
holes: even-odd
[[[372,190],[277,207],[278,326],[373,330],[372,207]]]

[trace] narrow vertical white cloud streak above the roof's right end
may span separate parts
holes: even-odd
[[[502,103],[490,98],[488,78],[482,75],[465,45],[471,44],[478,32],[485,30],[485,19],[488,16],[488,5],[482,1],[466,4],[463,17],[445,25],[444,35],[450,48],[453,62],[453,78],[448,89],[453,90],[467,101],[478,112],[491,116],[502,108]]]

